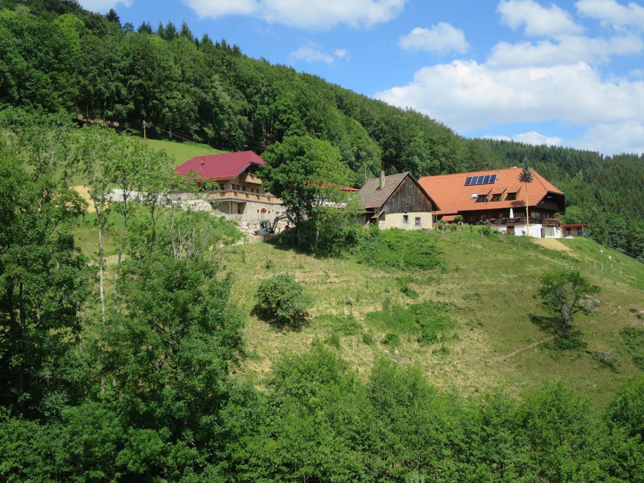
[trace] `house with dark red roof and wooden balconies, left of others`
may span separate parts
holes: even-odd
[[[252,151],[194,156],[175,168],[182,176],[194,171],[202,180],[216,181],[220,189],[209,193],[213,209],[229,220],[254,222],[283,214],[282,200],[267,193],[257,177],[266,162]]]

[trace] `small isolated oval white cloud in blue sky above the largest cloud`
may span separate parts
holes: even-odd
[[[399,45],[405,50],[425,50],[437,53],[466,53],[469,44],[460,28],[446,22],[439,22],[430,28],[416,27],[408,35],[400,38]]]

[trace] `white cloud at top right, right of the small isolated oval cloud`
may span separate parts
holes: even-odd
[[[525,26],[531,37],[549,37],[558,33],[579,33],[583,27],[571,15],[551,4],[545,8],[533,0],[501,0],[497,5],[502,23],[516,30]]]

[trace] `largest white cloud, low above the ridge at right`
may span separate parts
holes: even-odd
[[[460,132],[490,124],[549,120],[582,126],[644,124],[644,81],[603,80],[585,62],[507,68],[453,61],[424,67],[412,82],[375,97],[415,108]],[[625,138],[638,131],[631,127],[620,132]],[[594,139],[595,149],[603,146],[602,139]],[[634,149],[640,139],[624,142],[621,149]],[[587,141],[592,143],[592,136]]]

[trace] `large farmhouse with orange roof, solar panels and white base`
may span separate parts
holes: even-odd
[[[460,215],[472,225],[488,223],[516,235],[561,238],[562,225],[554,214],[565,210],[564,193],[531,171],[533,181],[527,186],[518,180],[516,167],[424,176],[419,184],[440,204],[435,213],[439,222],[450,223]]]

